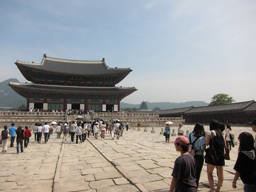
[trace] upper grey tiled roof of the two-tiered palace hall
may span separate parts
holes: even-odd
[[[19,68],[26,68],[38,72],[54,72],[57,74],[81,76],[118,75],[128,74],[132,71],[130,68],[109,68],[104,58],[100,61],[84,61],[52,58],[44,55],[42,63],[29,63],[17,60],[15,64]]]

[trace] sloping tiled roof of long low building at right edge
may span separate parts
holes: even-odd
[[[225,105],[194,107],[185,113],[190,114],[190,113],[202,113],[202,112],[224,112],[224,111],[233,111],[233,110],[244,110],[254,102],[255,101],[252,100],[252,101],[231,103],[231,104],[225,104]]]

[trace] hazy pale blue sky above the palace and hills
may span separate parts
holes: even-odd
[[[46,53],[130,67],[123,102],[256,100],[255,0],[2,0],[0,23],[0,82]]]

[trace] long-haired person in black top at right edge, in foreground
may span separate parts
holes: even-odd
[[[236,188],[236,181],[240,177],[244,183],[245,192],[256,191],[256,158],[254,139],[252,134],[242,132],[239,137],[238,158],[234,166],[236,174],[234,176],[232,187]]]

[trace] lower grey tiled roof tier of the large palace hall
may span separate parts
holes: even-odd
[[[10,82],[8,86],[12,87],[14,90],[78,94],[131,94],[137,90],[135,87],[82,87],[16,82]]]

